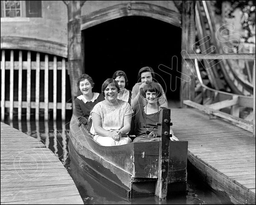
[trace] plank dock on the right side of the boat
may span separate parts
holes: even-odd
[[[203,112],[171,109],[172,129],[188,144],[188,160],[213,189],[236,204],[255,204],[253,133]]]

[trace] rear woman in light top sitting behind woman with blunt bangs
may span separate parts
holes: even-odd
[[[132,96],[131,96],[132,107],[136,106],[137,104],[143,104],[143,105],[147,104],[147,101],[143,96],[143,88],[145,87],[146,84],[150,82],[154,82],[154,79],[155,79],[155,74],[154,74],[154,70],[151,67],[146,66],[139,70],[138,83],[136,83],[132,88]],[[160,86],[161,93],[162,93],[157,103],[163,107],[168,107],[167,98],[163,91],[163,88],[159,83],[157,84]]]

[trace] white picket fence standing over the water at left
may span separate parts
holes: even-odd
[[[23,52],[19,51],[18,61],[14,61],[14,51],[10,51],[10,61],[6,61],[5,50],[2,50],[1,59],[1,120],[5,118],[5,108],[9,109],[9,119],[12,121],[14,116],[14,108],[17,108],[17,118],[20,121],[22,116],[22,108],[26,108],[26,120],[30,120],[31,109],[35,109],[35,120],[39,120],[40,109],[44,109],[44,119],[48,120],[49,110],[53,110],[53,120],[57,118],[57,110],[61,110],[61,119],[65,120],[66,110],[72,109],[72,103],[66,103],[66,72],[67,62],[65,58],[57,61],[57,57],[53,56],[53,61],[49,61],[49,56],[44,55],[44,61],[40,61],[40,53],[36,53],[36,61],[32,61],[31,52],[27,52],[26,61],[22,60]],[[6,79],[6,70],[9,70],[9,85]],[[15,70],[18,70],[18,82],[15,82]],[[26,79],[22,78],[26,70]],[[35,70],[35,75],[32,73]],[[44,70],[44,82],[40,82],[41,70]],[[53,71],[53,80],[50,82],[49,70]],[[61,70],[61,75],[57,73]],[[35,101],[31,101],[31,79],[35,79]],[[57,85],[57,78],[61,78],[61,85]],[[22,87],[23,81],[26,81],[26,92]],[[49,88],[49,83],[53,86]],[[40,93],[40,86],[44,85],[44,94]],[[9,101],[5,99],[5,91],[9,86]],[[61,102],[57,102],[57,87],[61,86]],[[18,101],[14,101],[14,87],[18,90]],[[49,102],[49,91],[53,90],[53,101]],[[40,101],[40,94],[44,95],[44,101]],[[22,101],[22,97],[26,96],[26,101]],[[24,97],[23,97],[24,98]]]

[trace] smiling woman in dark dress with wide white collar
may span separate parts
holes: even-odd
[[[94,86],[93,79],[87,74],[82,74],[78,78],[77,86],[82,95],[75,99],[75,113],[80,121],[79,126],[84,124],[90,131],[90,111],[94,105],[104,100],[104,96],[99,92],[92,92]]]

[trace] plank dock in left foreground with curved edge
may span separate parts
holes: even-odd
[[[84,204],[58,157],[1,122],[1,204]]]

